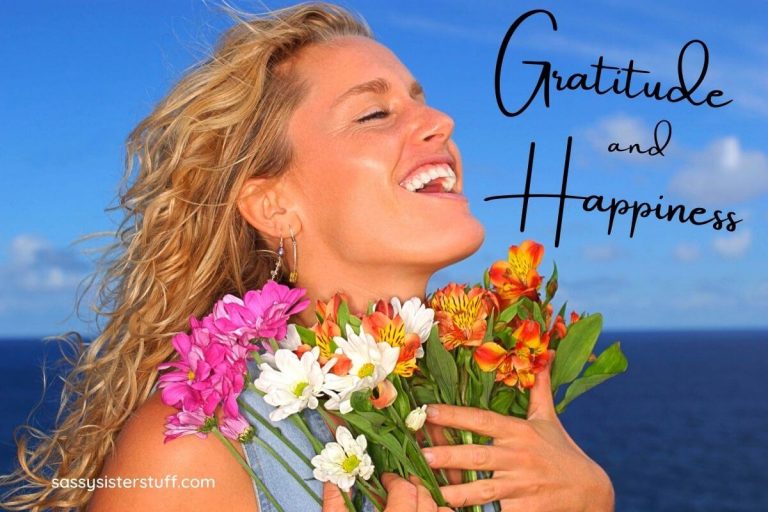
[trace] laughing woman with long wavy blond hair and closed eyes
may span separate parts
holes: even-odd
[[[16,481],[27,487],[1,504],[264,509],[217,439],[163,443],[172,410],[153,392],[157,365],[171,357],[170,339],[190,315],[260,287],[281,241],[288,255],[298,249],[296,260],[282,262],[286,275],[297,273],[313,301],[342,290],[359,310],[370,299],[423,297],[436,270],[483,241],[461,194],[452,130],[451,118],[426,105],[409,71],[346,11],[311,4],[240,20],[128,138],[126,217],[101,287],[107,323],[68,380],[64,419],[34,447],[20,447]],[[296,320],[313,322],[309,311]],[[500,499],[529,510],[612,510],[610,480],[565,433],[548,388],[544,375],[527,421],[430,408],[436,426],[474,429],[483,414],[481,432],[494,437],[493,446],[429,452],[435,468],[495,471],[445,487],[452,506]],[[247,455],[247,446],[240,450]],[[216,487],[51,485],[54,477],[99,475],[206,477]],[[418,482],[386,480],[388,510],[437,508]],[[343,508],[338,492],[324,491],[326,510]]]

